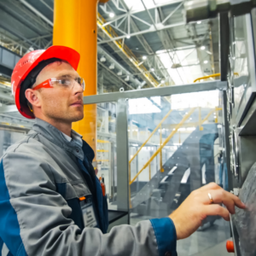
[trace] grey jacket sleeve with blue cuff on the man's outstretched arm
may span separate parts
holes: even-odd
[[[13,255],[177,255],[170,218],[119,225],[103,235],[80,230],[72,210],[56,192],[47,161],[33,154],[8,153],[0,163],[0,238]]]

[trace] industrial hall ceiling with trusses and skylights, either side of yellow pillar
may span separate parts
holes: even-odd
[[[188,84],[219,72],[218,19],[186,24],[183,3],[110,0],[99,5],[99,93]],[[3,114],[17,114],[11,111],[8,83],[15,63],[27,52],[52,44],[53,9],[53,0],[0,0],[2,121],[8,121]]]

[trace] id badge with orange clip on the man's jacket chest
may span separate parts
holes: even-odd
[[[92,206],[91,198],[85,198],[81,197],[80,200],[80,207],[83,212],[83,218],[84,218],[84,227],[85,228],[96,228],[97,227],[97,221],[95,212]]]

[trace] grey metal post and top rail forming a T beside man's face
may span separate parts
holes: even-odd
[[[161,88],[152,88],[145,90],[130,90],[125,92],[109,93],[96,96],[84,96],[84,104],[97,104],[102,102],[117,103],[116,120],[116,154],[118,170],[118,210],[129,211],[129,148],[128,148],[128,119],[127,119],[127,101],[131,98],[142,98],[151,96],[170,96],[175,94],[199,92],[206,90],[226,90],[226,81],[212,81],[198,84],[185,84],[178,86],[169,86]],[[130,218],[128,218],[129,221]]]

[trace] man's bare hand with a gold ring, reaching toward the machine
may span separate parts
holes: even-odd
[[[213,204],[209,199],[208,193],[212,195]],[[227,208],[218,205],[221,203]],[[207,216],[219,215],[225,220],[230,220],[230,213],[235,213],[235,206],[242,209],[246,208],[236,195],[225,191],[216,183],[209,183],[201,187],[201,189],[196,189],[169,216],[175,225],[177,240],[193,234]]]

